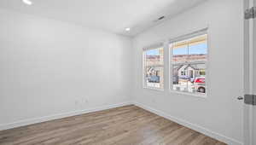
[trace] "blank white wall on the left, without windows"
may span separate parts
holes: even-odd
[[[6,9],[0,18],[0,129],[130,101],[130,38]]]

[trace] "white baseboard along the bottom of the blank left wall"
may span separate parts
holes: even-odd
[[[20,121],[14,122],[14,123],[0,125],[0,131],[16,128],[16,127],[20,127],[20,126],[25,126],[25,125],[37,124],[37,123],[41,123],[41,122],[45,122],[45,121],[49,121],[49,120],[53,120],[53,119],[62,119],[62,118],[66,118],[66,117],[83,114],[83,113],[92,113],[92,112],[102,111],[102,110],[106,110],[106,109],[110,109],[110,108],[114,108],[114,107],[123,107],[123,106],[131,105],[131,104],[132,104],[131,102],[122,102],[122,103],[113,104],[113,105],[106,105],[106,106],[102,106],[102,107],[94,107],[94,108],[89,108],[89,109],[85,109],[85,110],[73,111],[73,112],[69,112],[69,113],[58,113],[58,114],[44,116],[44,117],[40,117],[40,118],[36,118],[36,119],[24,119],[24,120],[20,120]]]

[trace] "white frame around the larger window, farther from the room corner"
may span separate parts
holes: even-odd
[[[205,79],[205,84],[206,84],[206,93],[193,93],[193,92],[185,92],[185,91],[179,91],[179,90],[173,90],[173,75],[172,75],[172,53],[173,53],[173,49],[170,47],[171,44],[175,43],[175,42],[178,42],[178,41],[183,41],[183,40],[186,40],[186,39],[189,39],[189,38],[195,38],[197,36],[201,36],[201,35],[204,35],[204,34],[207,34],[207,61],[206,61],[206,79]],[[192,32],[192,33],[189,33],[187,35],[183,35],[181,37],[177,37],[177,38],[174,38],[174,39],[171,39],[169,42],[168,42],[168,51],[169,51],[169,90],[171,93],[175,93],[175,94],[181,94],[181,95],[187,95],[187,96],[200,96],[200,97],[207,97],[207,94],[209,94],[209,86],[208,86],[208,76],[209,76],[209,73],[208,73],[208,65],[209,65],[209,34],[208,34],[208,31],[207,31],[207,28],[205,29],[201,29],[200,31],[197,31],[197,32]]]

